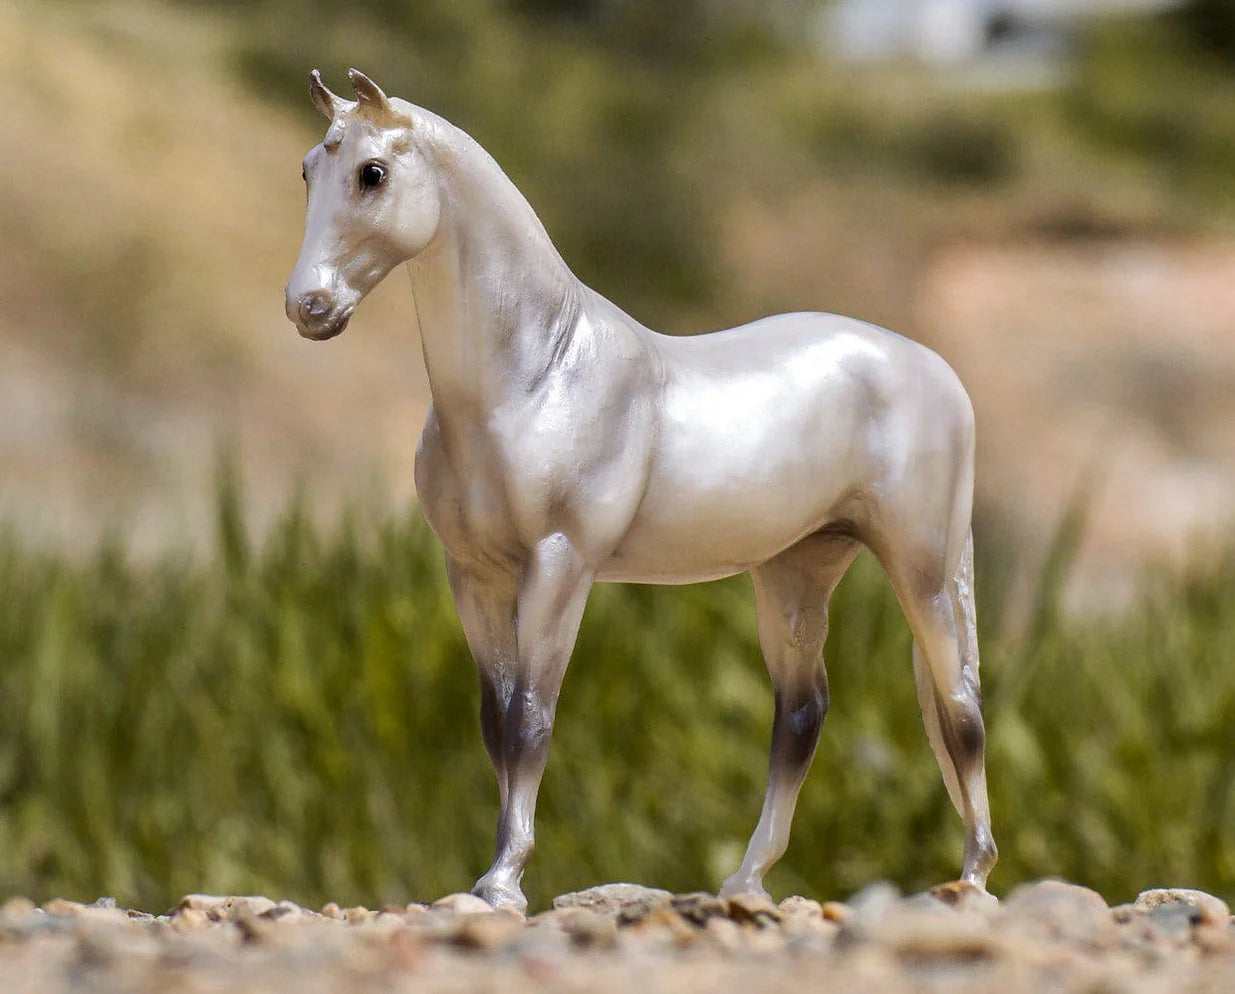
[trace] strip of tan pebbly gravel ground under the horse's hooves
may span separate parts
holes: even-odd
[[[779,906],[634,884],[566,894],[529,919],[469,894],[321,911],[190,895],[167,915],[14,898],[0,990],[56,992],[1221,992],[1230,909],[1195,890],[1109,908],[1055,880],[1002,903],[958,885]]]

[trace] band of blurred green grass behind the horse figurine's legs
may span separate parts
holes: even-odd
[[[0,894],[374,905],[471,885],[496,809],[472,663],[419,511],[375,517],[324,531],[291,506],[258,545],[224,488],[206,561],[0,540]],[[979,562],[979,589],[1007,572]],[[1167,883],[1231,896],[1233,589],[1229,558],[1118,620],[1066,620],[1047,594],[1028,638],[984,632],[997,892],[1057,874],[1112,900]],[[960,821],[868,557],[832,616],[832,712],[771,888],[955,877]],[[598,587],[534,906],[611,879],[715,888],[758,811],[769,721],[745,578]]]

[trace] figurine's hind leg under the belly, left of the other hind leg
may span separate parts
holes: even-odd
[[[772,677],[776,716],[768,785],[758,825],[741,867],[721,885],[721,896],[767,896],[763,877],[789,845],[798,793],[827,714],[827,601],[858,543],[814,535],[751,570],[760,646]]]

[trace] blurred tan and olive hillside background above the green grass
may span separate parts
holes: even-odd
[[[680,9],[679,9],[680,7]],[[1073,580],[1235,516],[1235,12],[1221,0],[459,0],[0,7],[0,517],[33,542],[401,504],[427,403],[406,279],[283,316],[320,65],[469,131],[567,261],[677,333],[835,310],[937,348],[1016,569]]]

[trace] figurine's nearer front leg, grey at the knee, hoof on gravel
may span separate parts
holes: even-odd
[[[536,795],[548,762],[562,678],[592,589],[589,570],[571,541],[556,533],[532,549],[516,594],[517,659],[494,695],[494,768],[501,790],[493,866],[472,893],[494,908],[527,909],[520,888],[535,845]],[[492,752],[490,752],[492,754]]]

